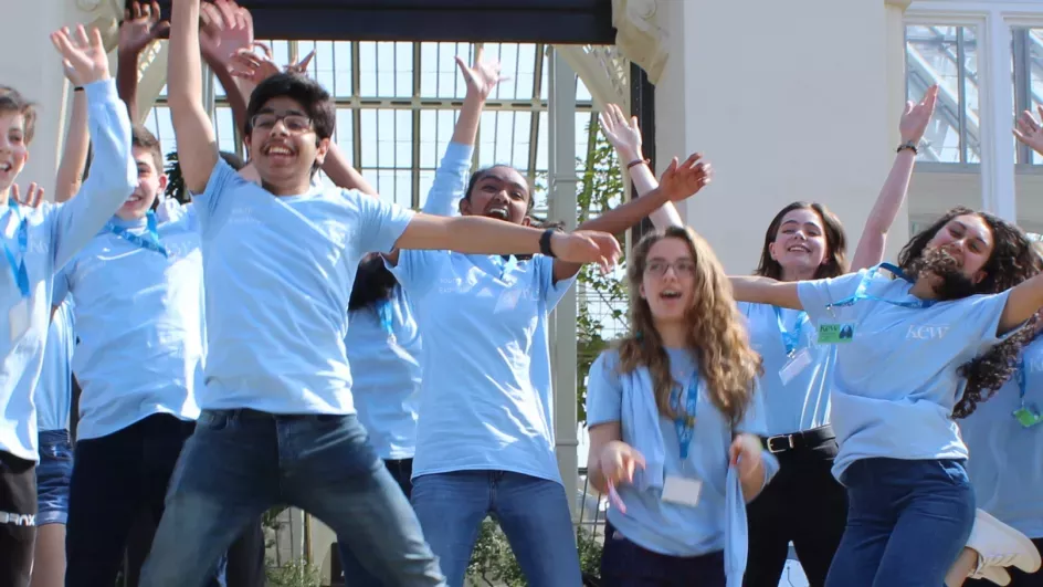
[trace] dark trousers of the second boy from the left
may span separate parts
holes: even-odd
[[[115,584],[131,528],[143,515],[162,517],[170,476],[194,427],[154,415],[76,442],[65,527],[66,587]],[[151,543],[152,532],[139,534],[147,536],[136,536],[137,546]]]

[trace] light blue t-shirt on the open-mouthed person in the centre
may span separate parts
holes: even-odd
[[[424,335],[413,476],[497,470],[560,482],[547,319],[575,279],[554,259],[401,251]]]

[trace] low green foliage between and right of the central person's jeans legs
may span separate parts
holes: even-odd
[[[584,575],[598,576],[601,568],[601,543],[587,530],[576,532],[579,551],[580,570]],[[474,585],[503,585],[505,587],[526,587],[528,583],[518,566],[518,560],[510,552],[507,536],[499,524],[491,518],[482,522],[478,539],[471,554],[467,578]]]

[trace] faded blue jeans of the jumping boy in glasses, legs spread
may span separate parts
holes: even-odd
[[[326,523],[387,585],[442,586],[409,501],[352,416],[203,411],[185,444],[143,587],[199,587],[277,504]]]

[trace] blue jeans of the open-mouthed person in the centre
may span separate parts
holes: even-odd
[[[413,479],[412,502],[450,587],[462,587],[487,515],[499,522],[531,587],[582,584],[560,483],[506,471],[434,473]]]

